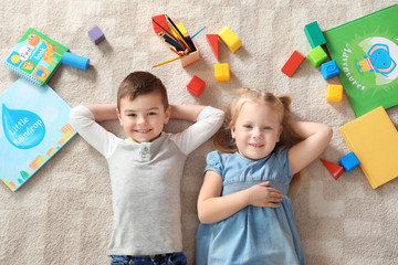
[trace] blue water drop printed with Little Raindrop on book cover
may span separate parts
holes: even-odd
[[[10,109],[4,104],[2,125],[8,141],[19,149],[38,146],[45,135],[45,126],[39,115],[24,109]]]

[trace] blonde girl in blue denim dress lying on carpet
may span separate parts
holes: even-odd
[[[292,177],[327,147],[332,129],[290,120],[291,99],[243,89],[207,156],[198,198],[197,265],[305,264],[286,197]]]

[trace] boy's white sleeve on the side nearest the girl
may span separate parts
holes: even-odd
[[[200,112],[193,125],[174,135],[171,139],[188,156],[216,134],[223,123],[223,116],[222,110],[207,106]]]

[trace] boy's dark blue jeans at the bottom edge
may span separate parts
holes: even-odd
[[[155,256],[113,255],[111,265],[187,265],[187,257],[182,252]]]

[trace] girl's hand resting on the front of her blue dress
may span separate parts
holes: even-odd
[[[253,186],[248,189],[248,204],[262,208],[279,208],[275,202],[283,199],[283,194],[276,189],[270,188],[270,181]]]

